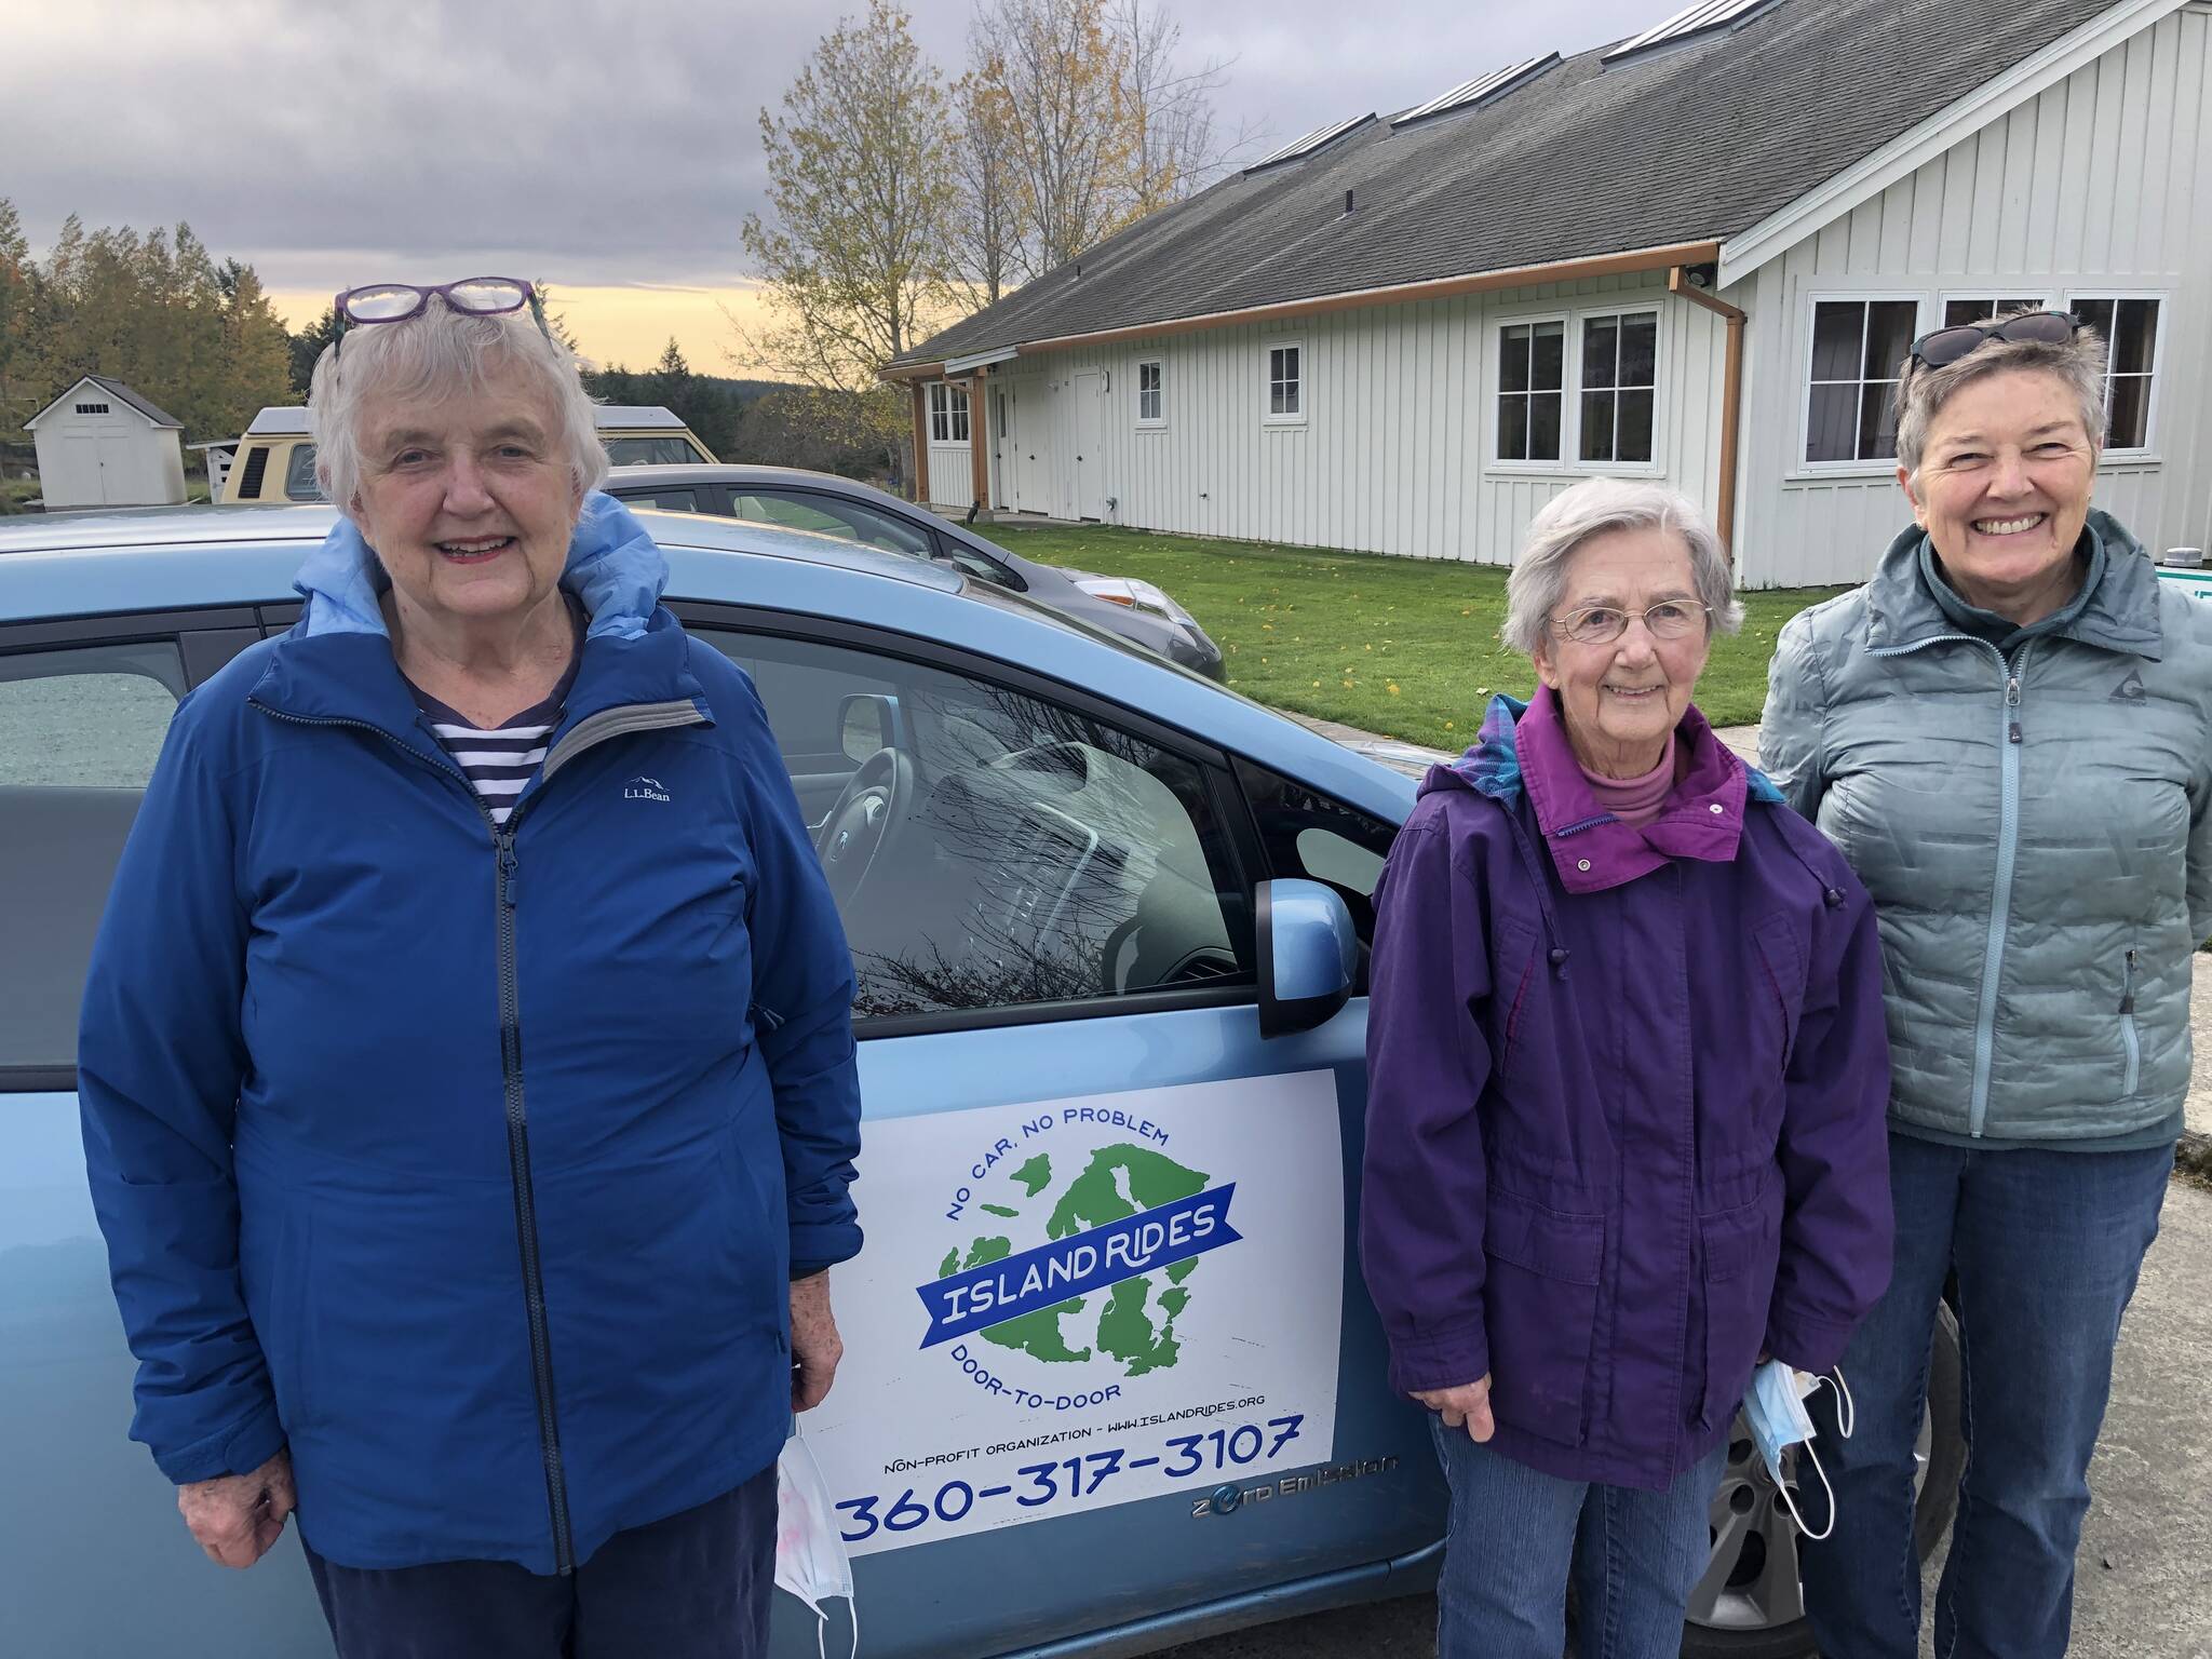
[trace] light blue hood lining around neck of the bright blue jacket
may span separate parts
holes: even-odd
[[[584,498],[560,584],[591,617],[588,639],[637,639],[668,586],[668,560],[628,507],[595,489]],[[385,615],[376,602],[389,586],[392,577],[354,520],[341,515],[292,580],[292,588],[307,599],[296,633],[385,635]]]

